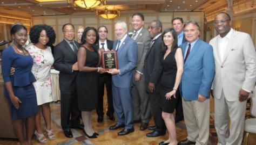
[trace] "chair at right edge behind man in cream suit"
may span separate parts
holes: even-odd
[[[251,115],[256,117],[256,86],[254,88],[254,95],[251,97]],[[249,133],[256,133],[256,118],[245,120],[245,144],[248,144]]]

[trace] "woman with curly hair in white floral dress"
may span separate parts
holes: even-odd
[[[36,114],[37,140],[41,143],[47,143],[41,128],[41,112],[45,120],[44,130],[47,132],[50,140],[55,139],[51,131],[51,111],[50,102],[52,102],[52,88],[50,70],[54,62],[50,46],[55,42],[55,31],[48,25],[35,25],[30,30],[30,40],[33,45],[26,47],[33,59],[32,73],[37,81],[33,83],[36,96],[38,113]]]

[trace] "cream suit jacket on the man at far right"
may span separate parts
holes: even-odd
[[[219,99],[221,90],[223,90],[228,101],[238,101],[240,89],[254,90],[256,81],[255,48],[250,35],[233,31],[224,53],[224,59],[221,61],[218,39],[219,35],[210,40],[215,60],[213,95]]]

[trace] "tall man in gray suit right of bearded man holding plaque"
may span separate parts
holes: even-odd
[[[144,16],[136,12],[132,14],[132,39],[137,42],[138,58],[134,74],[134,85],[132,87],[133,121],[142,121],[140,131],[144,131],[149,126],[151,118],[149,96],[146,93],[145,76],[143,73],[145,55],[150,47],[150,35],[144,27]]]

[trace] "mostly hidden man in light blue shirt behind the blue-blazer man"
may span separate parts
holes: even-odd
[[[174,19],[172,19],[172,27],[174,28],[174,30],[176,31],[177,35],[178,35],[178,46],[180,46],[181,44],[183,44],[184,42],[186,42],[187,40],[185,39],[185,35],[183,32],[183,18],[181,17],[176,17]],[[177,90],[177,95],[180,96],[180,92],[179,90]],[[181,97],[178,97],[178,102],[176,104],[175,110],[175,123],[178,123],[179,121],[184,119],[184,115],[183,115],[183,108],[182,108],[182,99]]]

